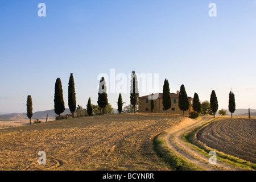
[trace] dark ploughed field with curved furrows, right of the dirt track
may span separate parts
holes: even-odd
[[[256,119],[220,119],[203,127],[197,139],[225,154],[256,163]]]

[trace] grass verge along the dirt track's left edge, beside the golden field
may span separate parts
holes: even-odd
[[[177,152],[171,150],[164,137],[166,132],[157,135],[153,140],[154,150],[158,156],[168,163],[172,170],[176,171],[203,171],[204,169],[189,162]]]

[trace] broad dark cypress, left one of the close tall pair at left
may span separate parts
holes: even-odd
[[[60,118],[60,114],[63,113],[64,110],[65,104],[63,100],[63,89],[60,78],[57,78],[55,82],[54,111]]]

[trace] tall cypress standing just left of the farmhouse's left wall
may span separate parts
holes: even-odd
[[[138,80],[135,71],[131,72],[131,88],[130,88],[130,103],[133,106],[134,113],[136,106],[138,105],[139,89]]]

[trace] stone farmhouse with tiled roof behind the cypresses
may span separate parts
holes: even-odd
[[[150,100],[148,96],[139,97],[139,113],[151,113],[150,111]],[[177,93],[171,93],[172,105],[171,108],[168,109],[167,113],[169,114],[183,114],[183,111],[179,108],[179,91]],[[189,108],[184,111],[184,115],[189,115],[192,109],[192,101],[193,98],[188,97]],[[153,113],[166,113],[166,110],[163,109],[163,93],[159,93],[159,96],[156,100],[154,100],[154,112]]]

